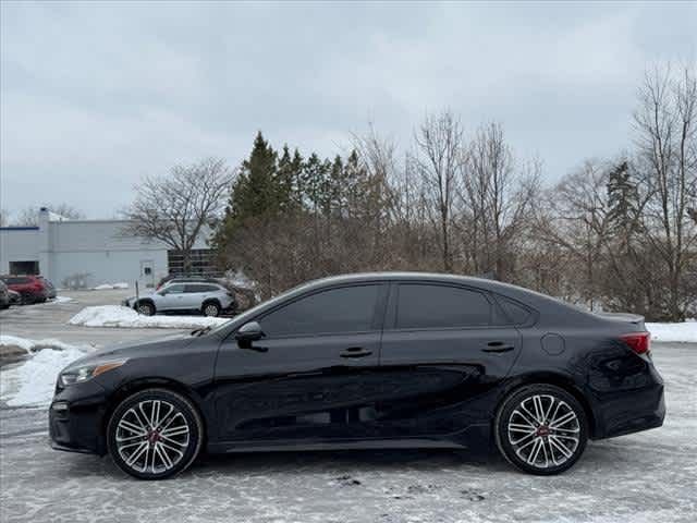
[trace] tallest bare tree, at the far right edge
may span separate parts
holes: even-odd
[[[634,114],[636,144],[650,195],[647,238],[669,278],[669,311],[684,318],[687,264],[694,262],[697,228],[690,218],[697,191],[697,78],[694,68],[678,75],[670,66],[648,72]]]

